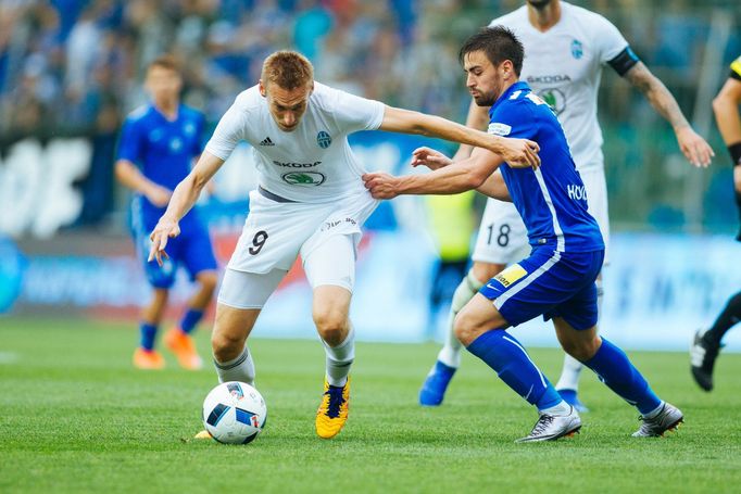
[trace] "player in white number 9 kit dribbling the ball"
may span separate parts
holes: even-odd
[[[314,81],[303,55],[279,51],[260,83],[240,93],[222,117],[192,172],[173,192],[152,231],[150,259],[166,257],[178,220],[239,141],[254,150],[259,188],[226,268],[212,334],[221,382],[254,382],[247,338],[280,280],[301,254],[313,289],[313,318],[326,352],[326,378],[316,432],[334,438],[348,418],[354,334],[348,318],[361,227],[378,202],[348,144],[359,130],[424,134],[483,147],[524,167],[539,164],[538,145],[470,129],[440,117],[386,106]],[[199,433],[198,436],[203,436]]]

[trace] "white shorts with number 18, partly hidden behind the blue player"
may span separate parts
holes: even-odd
[[[610,259],[610,219],[604,168],[591,168],[579,172],[579,175],[587,189],[589,214],[596,219],[604,239],[606,265]],[[487,200],[472,256],[474,262],[506,265],[527,257],[529,252],[527,229],[514,204]]]

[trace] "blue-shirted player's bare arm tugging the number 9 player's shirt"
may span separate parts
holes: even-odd
[[[375,199],[393,199],[401,194],[456,194],[481,187],[502,163],[500,155],[476,149],[469,159],[429,174],[394,177],[372,173],[363,175],[363,182]]]

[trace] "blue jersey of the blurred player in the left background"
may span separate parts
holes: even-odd
[[[180,105],[177,118],[168,121],[152,104],[131,112],[121,132],[118,160],[136,164],[149,180],[169,190],[190,173],[193,157],[203,151],[205,121],[193,109]],[[134,198],[134,226],[151,231],[164,207],[158,207],[147,198]],[[190,228],[196,212],[189,212],[181,220],[180,228]]]

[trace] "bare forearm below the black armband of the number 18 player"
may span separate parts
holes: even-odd
[[[694,166],[708,166],[712,157],[715,156],[713,149],[705,139],[692,129],[679,109],[677,100],[666,89],[666,86],[649,71],[643,62],[633,65],[626,73],[626,77],[645,96],[654,110],[671,124],[679,149],[687,160]]]

